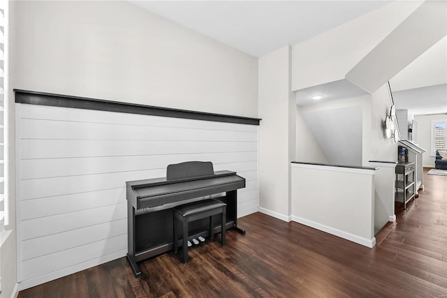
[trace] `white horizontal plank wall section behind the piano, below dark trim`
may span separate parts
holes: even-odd
[[[127,252],[125,181],[212,161],[247,179],[238,213],[258,211],[258,126],[16,104],[22,288]]]

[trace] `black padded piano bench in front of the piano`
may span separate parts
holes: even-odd
[[[210,238],[214,238],[212,216],[221,214],[221,244],[225,246],[226,204],[219,200],[207,199],[182,204],[174,208],[174,251],[178,251],[177,221],[182,223],[183,262],[188,262],[188,223],[210,217]]]

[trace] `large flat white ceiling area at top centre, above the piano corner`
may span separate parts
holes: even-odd
[[[254,57],[295,45],[391,1],[130,1]]]

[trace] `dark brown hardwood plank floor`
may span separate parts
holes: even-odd
[[[18,297],[447,297],[447,177],[427,170],[372,249],[256,213],[240,218],[247,234],[191,248],[186,265],[166,253],[136,279],[120,258]]]

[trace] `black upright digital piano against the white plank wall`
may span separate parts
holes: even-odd
[[[244,187],[236,172],[214,172],[211,162],[202,161],[168,165],[163,178],[126,181],[127,258],[135,276],[141,274],[137,262],[173,249],[173,207],[179,204],[222,194],[213,198],[227,204],[226,229],[245,234],[237,227],[237,189]],[[189,235],[209,236],[207,225],[206,218],[191,223]],[[219,232],[220,226],[214,229]]]

